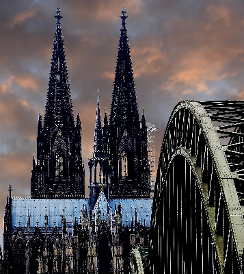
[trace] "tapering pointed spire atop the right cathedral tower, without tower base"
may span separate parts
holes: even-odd
[[[122,27],[117,55],[116,73],[113,83],[110,124],[120,123],[125,127],[133,121],[139,121],[135,84],[131,64],[131,53],[126,29],[126,11],[122,10]]]

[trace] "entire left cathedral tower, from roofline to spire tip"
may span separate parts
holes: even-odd
[[[38,119],[37,159],[33,159],[31,198],[81,198],[85,195],[81,121],[74,123],[59,8],[46,96]]]

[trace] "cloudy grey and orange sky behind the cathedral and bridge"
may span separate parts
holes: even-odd
[[[184,99],[244,99],[242,0],[0,1],[0,245],[8,186],[28,197],[38,114],[44,114],[55,34],[61,27],[74,116],[81,116],[82,157],[92,157],[96,90],[111,106],[122,8],[140,116],[158,128],[156,166],[174,106]],[[87,193],[87,192],[86,192]]]

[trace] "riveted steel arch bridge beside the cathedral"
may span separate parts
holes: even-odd
[[[244,101],[182,101],[167,124],[148,273],[244,273]]]

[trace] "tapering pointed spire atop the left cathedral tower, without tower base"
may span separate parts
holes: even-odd
[[[61,132],[73,132],[74,130],[72,100],[60,23],[60,19],[63,16],[60,15],[59,8],[57,8],[56,12],[57,15],[54,17],[57,19],[57,22],[44,116],[44,130],[47,134],[57,129],[61,130]]]

